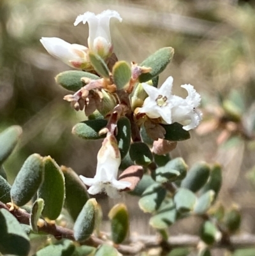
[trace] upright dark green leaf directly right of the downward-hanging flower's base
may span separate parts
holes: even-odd
[[[130,143],[131,143],[131,124],[129,119],[122,117],[117,123],[118,134],[116,136],[121,159],[123,159],[126,154],[128,154]]]

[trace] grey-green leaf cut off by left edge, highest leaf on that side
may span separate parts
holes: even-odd
[[[0,166],[10,156],[22,133],[20,126],[10,126],[0,133]]]

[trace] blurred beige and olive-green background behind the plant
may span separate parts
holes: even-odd
[[[192,84],[202,95],[205,125],[192,131],[191,139],[180,142],[171,156],[182,156],[189,166],[196,161],[220,162],[224,166],[221,202],[226,207],[237,204],[242,230],[254,233],[254,6],[254,1],[238,0],[1,0],[0,130],[11,124],[24,129],[6,165],[10,181],[32,153],[50,155],[78,174],[94,175],[101,142],[85,142],[71,134],[71,128],[85,119],[84,112],[75,112],[62,100],[68,91],[54,80],[70,68],[50,56],[39,40],[59,37],[87,45],[87,25],[73,26],[77,15],[113,9],[123,18],[111,25],[120,60],[140,63],[161,47],[175,49],[159,84],[173,76],[173,92],[181,96],[186,94],[180,85]],[[227,122],[222,115],[228,116]],[[229,129],[231,124],[242,125],[244,134]],[[137,199],[125,195],[121,200],[128,202],[131,232],[150,234]],[[110,207],[117,201],[102,197],[101,202]],[[193,228],[187,226],[173,227],[171,234],[191,232]]]

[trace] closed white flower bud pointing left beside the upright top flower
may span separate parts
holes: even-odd
[[[84,45],[71,44],[61,38],[43,37],[40,42],[47,52],[73,68],[87,70],[91,66]]]

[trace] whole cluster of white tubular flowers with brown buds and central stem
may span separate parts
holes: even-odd
[[[139,66],[137,63],[132,63],[130,68],[128,63],[118,61],[117,57],[113,58],[113,63],[108,61],[114,55],[110,36],[111,18],[122,21],[119,13],[112,10],[103,11],[99,15],[89,11],[78,15],[75,26],[80,22],[89,24],[89,48],[67,43],[60,38],[41,38],[41,43],[52,56],[73,68],[92,73],[92,76],[89,74],[90,76],[87,77],[79,77],[78,82],[82,83],[82,87],[75,94],[66,95],[64,100],[70,102],[76,110],[85,109],[86,116],[98,111],[101,115],[99,118],[107,120],[105,128],[100,128],[99,131],[100,135],[105,133],[107,135],[98,152],[96,175],[94,178],[80,176],[80,179],[89,186],[88,192],[91,195],[106,192],[110,197],[115,198],[119,197],[120,190],[131,190],[135,184],[135,182],[132,184],[129,182],[132,180],[130,175],[128,181],[118,180],[121,162],[119,146],[123,146],[124,142],[119,144],[115,136],[118,132],[123,132],[116,128],[121,117],[128,119],[131,126],[131,138],[130,136],[129,139],[126,138],[127,148],[130,147],[130,143],[142,142],[140,130],[144,125],[147,135],[154,140],[153,147],[149,151],[166,154],[177,145],[176,141],[165,139],[166,126],[177,122],[183,125],[180,129],[182,127],[188,131],[198,126],[202,114],[196,109],[200,105],[200,94],[196,93],[190,84],[181,86],[187,91],[187,97],[181,98],[171,93],[173,77],[168,77],[159,89],[152,86],[150,79],[158,75],[158,73],[154,76],[150,75],[150,72],[153,72],[152,66]],[[166,47],[164,53],[169,56],[169,61],[166,61],[168,64],[173,49]],[[166,59],[165,56],[163,58]],[[88,74],[87,72],[84,73]],[[148,74],[150,79],[140,83],[140,76]],[[56,77],[56,80],[59,80],[61,75],[62,73]],[[69,77],[67,80],[70,80]],[[167,125],[164,126],[164,124]],[[142,169],[140,166],[139,168]]]

